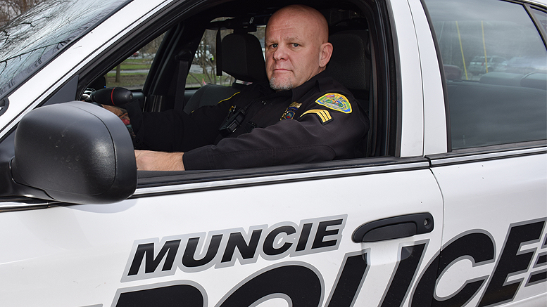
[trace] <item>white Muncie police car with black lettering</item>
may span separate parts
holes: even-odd
[[[291,3],[44,1],[1,29],[0,306],[546,306],[545,1],[299,1],[370,118],[359,159],[137,171],[82,101],[161,41],[131,100],[209,103],[199,50]],[[467,72],[493,55],[540,60]]]

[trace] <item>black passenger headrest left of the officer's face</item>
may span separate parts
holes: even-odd
[[[267,79],[264,55],[258,38],[249,33],[234,33],[222,39],[222,70],[241,81],[257,82]]]

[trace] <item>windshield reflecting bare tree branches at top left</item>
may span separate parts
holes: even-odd
[[[0,98],[127,0],[45,0],[0,27]]]

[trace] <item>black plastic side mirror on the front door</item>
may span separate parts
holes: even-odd
[[[108,110],[80,101],[39,107],[21,119],[11,172],[15,183],[60,202],[119,202],[137,188],[125,125]]]

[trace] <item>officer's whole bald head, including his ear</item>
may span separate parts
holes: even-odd
[[[309,6],[275,12],[266,27],[266,72],[277,91],[293,89],[325,70],[332,55],[325,17]]]

